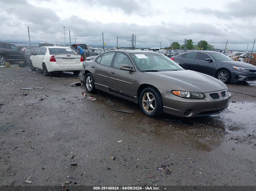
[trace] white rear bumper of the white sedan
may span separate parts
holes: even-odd
[[[83,62],[80,62],[80,64],[56,64],[56,62],[45,63],[45,64],[46,64],[48,72],[75,71],[75,70],[83,69]]]

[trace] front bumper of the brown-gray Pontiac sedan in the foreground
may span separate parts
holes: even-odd
[[[229,105],[231,94],[226,90],[204,93],[204,98],[183,98],[175,96],[171,91],[158,89],[163,99],[164,113],[179,117],[209,116],[223,112]],[[225,91],[222,97],[221,92]],[[210,94],[218,94],[213,99]]]

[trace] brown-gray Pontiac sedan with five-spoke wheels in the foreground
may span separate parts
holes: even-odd
[[[218,79],[141,50],[112,50],[91,57],[83,63],[81,82],[89,93],[101,90],[138,103],[150,117],[214,115],[228,107],[231,97]]]

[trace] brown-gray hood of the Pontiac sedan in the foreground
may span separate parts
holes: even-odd
[[[175,84],[183,91],[207,93],[213,91],[221,91],[227,88],[227,86],[216,78],[209,75],[202,74],[191,70],[179,70],[179,71],[166,71],[166,72],[151,72],[155,77],[163,77],[160,86],[165,87],[164,90],[171,91],[173,89],[171,84]],[[168,84],[165,82],[168,81]],[[169,83],[170,82],[170,83]],[[167,88],[166,88],[167,85]]]

